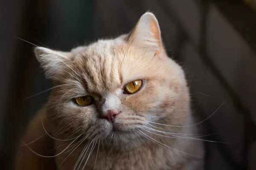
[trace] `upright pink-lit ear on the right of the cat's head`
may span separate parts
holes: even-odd
[[[154,51],[155,56],[165,53],[157,18],[151,12],[146,12],[140,17],[126,40],[140,48]]]

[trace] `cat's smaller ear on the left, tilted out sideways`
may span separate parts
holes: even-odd
[[[35,56],[45,71],[45,75],[50,79],[57,79],[64,71],[64,66],[70,61],[71,53],[54,51],[49,48],[36,47]]]

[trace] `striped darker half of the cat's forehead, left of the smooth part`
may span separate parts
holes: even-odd
[[[76,65],[87,91],[102,93],[115,91],[122,84],[120,44],[101,40],[77,54]]]

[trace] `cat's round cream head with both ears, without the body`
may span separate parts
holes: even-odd
[[[54,82],[48,106],[64,132],[130,143],[151,122],[182,125],[189,112],[183,70],[166,55],[152,13],[116,39],[70,52],[38,47],[35,54]]]

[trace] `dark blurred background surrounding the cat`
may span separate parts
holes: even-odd
[[[35,45],[68,51],[128,33],[152,11],[186,71],[193,114],[208,133],[207,170],[256,170],[256,0],[10,0],[0,2],[0,169],[52,87]],[[23,39],[23,40],[21,40]],[[26,42],[27,41],[27,42]],[[32,45],[35,44],[35,45]]]

